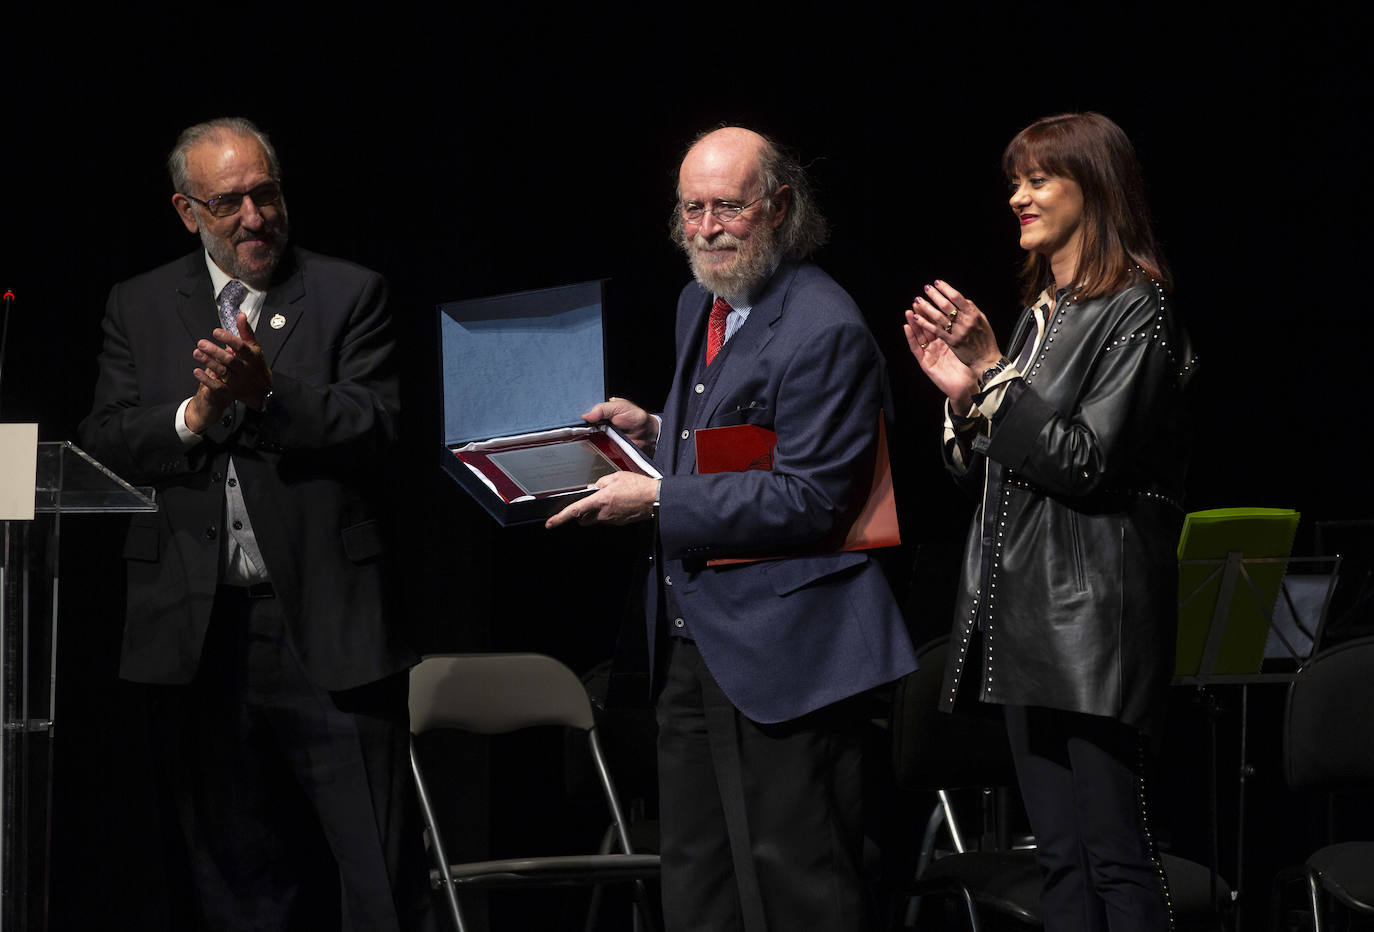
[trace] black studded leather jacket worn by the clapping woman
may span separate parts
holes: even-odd
[[[1028,308],[1009,357],[1035,334]],[[976,685],[987,702],[1154,724],[1173,669],[1193,367],[1158,283],[1083,302],[1061,296],[992,419],[971,443],[947,443],[947,465],[982,504],[965,550],[945,708],[967,672],[976,683],[965,690]]]

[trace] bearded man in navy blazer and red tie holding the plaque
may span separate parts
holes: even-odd
[[[548,525],[658,521],[668,928],[867,929],[863,697],[915,658],[878,565],[833,543],[872,476],[882,356],[853,300],[805,261],[826,231],[796,158],[717,129],[687,151],[677,195],[695,280],[664,412],[610,399],[583,415],[651,451],[664,478],[607,476]],[[698,474],[695,433],[745,423],[776,432],[772,469]],[[764,559],[706,565],[717,557]]]

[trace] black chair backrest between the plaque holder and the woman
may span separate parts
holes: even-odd
[[[892,704],[892,763],[897,785],[905,789],[1013,786],[1017,777],[1002,707],[940,711],[948,652],[948,638],[923,643],[916,652],[916,671],[897,682]]]

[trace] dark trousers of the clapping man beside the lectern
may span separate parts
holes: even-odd
[[[150,689],[202,928],[430,921],[404,672],[319,689],[276,599],[221,587],[192,683]]]

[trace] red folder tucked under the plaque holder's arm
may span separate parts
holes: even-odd
[[[742,423],[731,428],[703,428],[697,432],[698,473],[742,473],[746,469],[772,469],[772,452],[778,434],[767,428]],[[892,461],[888,458],[888,429],[882,412],[878,414],[878,450],[874,456],[872,482],[868,498],[849,525],[844,543],[829,553],[844,550],[874,550],[896,547],[901,543],[897,528],[897,500],[892,493]],[[827,551],[820,551],[827,553]],[[798,554],[772,557],[727,557],[708,559],[708,566],[750,564],[760,559],[780,559]]]

